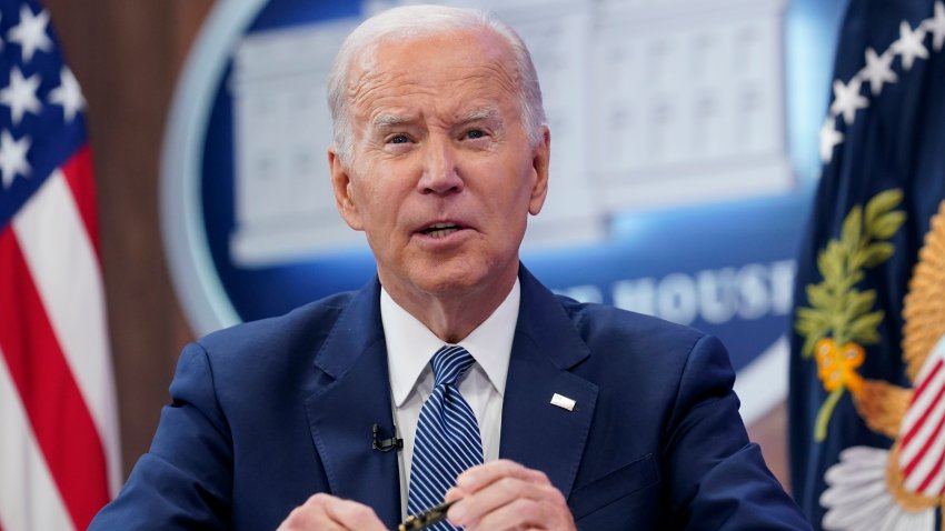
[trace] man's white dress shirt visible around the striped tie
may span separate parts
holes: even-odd
[[[511,355],[511,341],[518,321],[518,279],[506,299],[479,327],[460,341],[476,363],[459,381],[459,392],[469,402],[483,437],[485,461],[499,457],[503,421],[503,395]],[[414,315],[400,308],[387,290],[380,291],[380,319],[387,342],[387,365],[394,402],[397,437],[404,439],[400,461],[400,512],[407,517],[407,493],[414,434],[420,408],[434,389],[430,360],[445,343]]]

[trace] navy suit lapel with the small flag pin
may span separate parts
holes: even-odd
[[[541,470],[567,498],[580,464],[597,385],[568,370],[589,355],[560,302],[521,268],[521,303],[503,402],[499,455]],[[553,405],[554,394],[575,401]]]

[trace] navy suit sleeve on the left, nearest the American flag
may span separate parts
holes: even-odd
[[[180,355],[151,449],[90,530],[226,529],[232,447],[202,347]]]

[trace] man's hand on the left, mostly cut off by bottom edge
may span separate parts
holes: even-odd
[[[387,531],[374,509],[318,493],[295,508],[276,531]]]

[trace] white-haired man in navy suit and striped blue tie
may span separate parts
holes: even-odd
[[[387,11],[342,46],[329,104],[336,201],[378,279],[188,345],[93,529],[381,531],[444,499],[467,530],[807,529],[718,341],[519,264],[550,134],[510,28]]]

